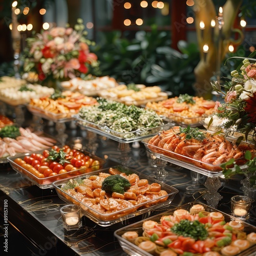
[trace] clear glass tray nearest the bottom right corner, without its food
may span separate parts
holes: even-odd
[[[142,250],[140,249],[137,245],[135,245],[134,243],[132,242],[129,242],[128,240],[122,238],[122,234],[124,234],[125,232],[128,232],[128,231],[136,231],[138,232],[138,235],[141,237],[142,236],[142,233],[143,233],[143,228],[142,228],[142,225],[145,221],[156,221],[156,222],[160,222],[160,219],[162,216],[168,216],[168,215],[173,215],[174,214],[174,211],[175,210],[178,210],[178,209],[183,209],[183,210],[187,210],[189,211],[191,207],[193,207],[194,205],[196,204],[200,204],[204,207],[205,211],[208,211],[208,212],[221,212],[221,214],[223,214],[224,216],[224,220],[226,222],[229,222],[229,221],[232,221],[233,218],[230,216],[230,215],[227,215],[225,214],[224,212],[222,211],[219,211],[215,208],[212,208],[206,204],[203,204],[203,203],[198,203],[198,202],[191,202],[191,203],[187,203],[187,204],[184,204],[184,205],[181,205],[177,208],[174,208],[172,210],[168,210],[168,211],[165,211],[165,212],[162,212],[161,214],[158,214],[156,216],[153,216],[153,217],[150,217],[150,218],[147,218],[147,219],[144,219],[143,221],[139,221],[139,222],[136,222],[134,224],[131,224],[129,226],[126,226],[126,227],[123,227],[123,228],[120,228],[118,230],[116,230],[114,232],[114,236],[117,238],[118,242],[120,243],[122,249],[128,253],[129,255],[136,255],[136,256],[152,256],[153,254],[151,253],[148,253],[146,252],[145,250]],[[250,232],[256,232],[256,227],[246,223],[246,222],[243,222],[243,221],[240,221],[240,223],[243,224],[244,226],[244,231],[248,234]],[[255,250],[256,250],[256,244],[252,244],[249,248],[247,248],[246,250],[243,250],[241,251],[239,254],[236,254],[236,255],[233,255],[233,256],[252,256],[252,255],[255,255]],[[167,249],[167,247],[166,247]],[[159,254],[154,254],[154,255],[159,255]],[[177,256],[180,255],[180,254],[177,254]],[[202,254],[195,254],[195,255],[202,255]],[[220,254],[220,255],[223,255],[223,254]],[[231,255],[231,254],[230,254]]]

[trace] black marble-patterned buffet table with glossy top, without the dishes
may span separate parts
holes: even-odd
[[[57,133],[54,126],[46,125],[45,130],[53,136]],[[88,151],[106,159],[104,168],[125,163],[126,166],[153,178],[159,172],[156,159],[148,157],[141,142],[127,146],[78,126],[73,127],[71,123],[67,124],[66,133],[67,140],[82,138],[82,144]],[[41,189],[16,173],[9,164],[2,164],[0,209],[3,235],[1,239],[5,239],[3,243],[7,241],[2,250],[7,249],[10,254],[23,251],[27,255],[60,255],[60,253],[127,255],[114,238],[115,230],[187,202],[197,201],[206,204],[204,196],[208,191],[204,185],[206,181],[204,175],[172,163],[165,163],[163,167],[167,173],[163,182],[179,190],[170,205],[108,227],[99,226],[83,216],[83,225],[80,229],[67,231],[63,228],[60,216],[60,208],[67,203],[58,197],[55,189]],[[225,181],[219,177],[221,185],[218,190],[216,207],[218,210],[231,213],[230,198],[234,195],[242,195],[241,178]],[[254,202],[247,221],[254,226],[256,225],[255,206]]]

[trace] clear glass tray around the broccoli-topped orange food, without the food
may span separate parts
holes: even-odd
[[[172,200],[174,199],[175,195],[178,193],[178,189],[176,189],[172,186],[169,186],[167,184],[164,184],[160,181],[157,181],[153,178],[150,178],[144,174],[141,174],[141,173],[137,172],[136,170],[131,169],[129,167],[118,165],[118,166],[114,166],[112,168],[117,168],[121,172],[124,172],[127,175],[136,174],[139,176],[140,180],[146,179],[148,181],[148,184],[158,183],[161,185],[161,189],[165,190],[167,194],[165,194],[164,196],[158,197],[157,202],[155,202],[155,203],[154,203],[154,201],[156,201],[156,198],[152,199],[152,200],[148,200],[146,202],[139,203],[137,205],[134,205],[134,206],[126,208],[126,209],[121,209],[121,210],[113,211],[110,213],[108,213],[108,212],[102,213],[101,211],[96,210],[95,208],[92,208],[92,207],[84,204],[83,202],[81,202],[77,198],[75,198],[74,196],[71,196],[70,194],[68,194],[65,190],[61,189],[61,187],[65,186],[70,181],[70,179],[56,181],[53,183],[53,186],[55,187],[58,196],[62,200],[64,200],[67,203],[73,203],[73,204],[80,205],[82,208],[83,215],[88,217],[92,221],[96,222],[100,226],[110,226],[115,223],[121,222],[123,220],[127,220],[132,217],[142,215],[145,212],[148,213],[153,209],[161,208],[165,205],[170,204],[172,202]],[[100,173],[109,174],[109,169],[110,168],[105,168],[105,169],[99,170],[97,172],[93,172],[92,174],[86,174],[86,175],[80,176],[79,179],[88,179],[88,178],[90,178],[90,176],[96,176]],[[76,179],[74,179],[74,180],[76,180]],[[165,200],[165,201],[161,200],[161,199],[165,199],[166,197],[167,197],[167,200]]]

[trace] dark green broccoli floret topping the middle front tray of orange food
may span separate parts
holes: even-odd
[[[129,180],[120,176],[119,174],[111,175],[106,177],[102,182],[102,190],[107,193],[116,192],[119,194],[123,194],[127,189],[131,187],[131,183]]]

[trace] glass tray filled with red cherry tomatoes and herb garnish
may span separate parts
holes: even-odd
[[[11,167],[38,187],[53,188],[53,182],[91,173],[105,160],[73,145],[54,145],[47,150],[7,157]]]

